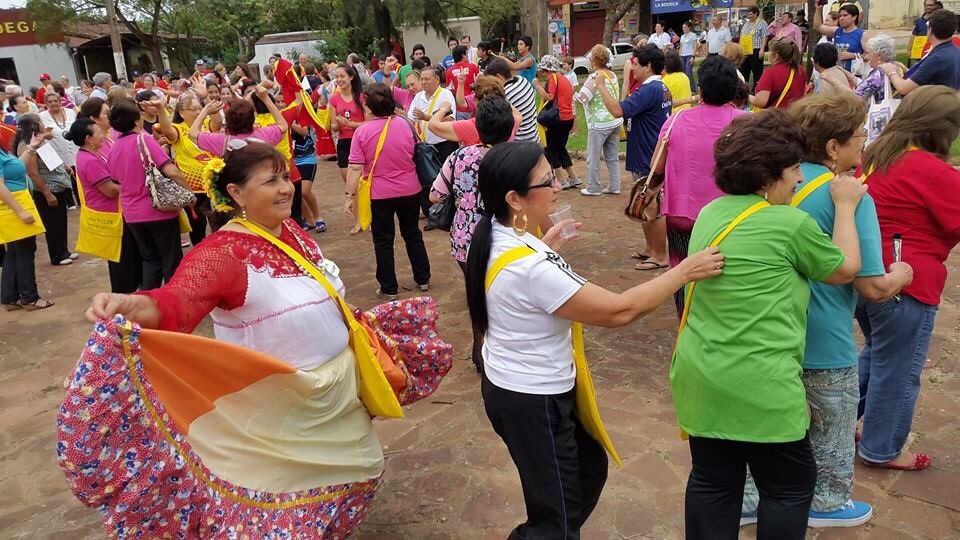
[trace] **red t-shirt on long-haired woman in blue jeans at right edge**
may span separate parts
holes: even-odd
[[[893,262],[893,235],[899,233],[902,260],[913,267],[913,283],[903,292],[939,305],[947,281],[943,263],[960,242],[960,172],[917,150],[871,174],[867,185],[877,205],[884,266]]]

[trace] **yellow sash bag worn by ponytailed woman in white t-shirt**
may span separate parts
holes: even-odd
[[[487,269],[486,287],[487,291],[497,279],[500,271],[506,268],[510,263],[533,255],[537,251],[529,246],[517,246],[507,250],[506,253],[497,257],[493,264]],[[577,383],[575,394],[577,399],[577,418],[583,424],[583,428],[591,437],[597,440],[603,448],[613,458],[618,467],[623,467],[620,461],[620,455],[613,447],[613,441],[607,435],[607,430],[603,427],[603,421],[600,420],[600,409],[597,407],[597,393],[593,388],[593,378],[590,376],[590,367],[587,365],[587,357],[583,350],[583,325],[575,322],[571,327],[573,336],[573,364],[577,369]]]

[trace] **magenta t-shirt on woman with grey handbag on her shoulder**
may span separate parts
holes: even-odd
[[[123,219],[127,223],[176,219],[176,211],[154,210],[150,202],[150,192],[147,191],[146,184],[147,173],[137,149],[138,138],[140,138],[138,133],[121,135],[110,150],[110,157],[107,158],[110,177],[120,184],[120,207],[123,209]],[[163,147],[153,137],[145,135],[142,140],[158,169],[162,169],[170,162],[170,156],[163,151]]]

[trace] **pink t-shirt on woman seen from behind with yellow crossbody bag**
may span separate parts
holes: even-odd
[[[377,159],[377,168],[370,182],[371,199],[392,199],[420,193],[420,180],[413,164],[413,130],[399,116],[391,116],[387,129],[387,138],[383,141],[383,150]],[[374,118],[353,132],[350,144],[350,163],[363,164],[363,175],[370,174],[380,132],[387,123],[386,118]]]

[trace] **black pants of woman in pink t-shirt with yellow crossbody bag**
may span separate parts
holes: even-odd
[[[430,283],[430,259],[420,232],[420,195],[374,199],[371,201],[373,219],[370,232],[373,236],[373,251],[377,256],[377,283],[384,294],[397,294],[397,273],[393,260],[393,239],[396,236],[393,216],[400,224],[400,236],[407,246],[407,257],[413,267],[413,280],[417,285]]]

